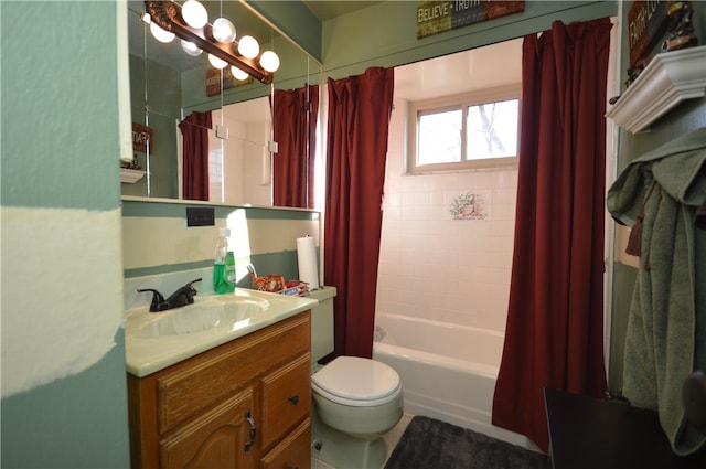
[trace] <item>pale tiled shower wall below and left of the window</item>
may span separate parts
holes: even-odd
[[[404,174],[407,104],[396,102],[388,140],[376,311],[504,333],[517,169]],[[485,220],[453,220],[466,193]]]

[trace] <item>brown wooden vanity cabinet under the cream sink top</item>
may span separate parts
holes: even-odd
[[[128,374],[133,468],[308,468],[310,311],[143,377]]]

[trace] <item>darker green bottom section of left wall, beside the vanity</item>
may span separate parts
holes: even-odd
[[[125,373],[119,347],[84,373],[2,399],[1,466],[128,468]]]

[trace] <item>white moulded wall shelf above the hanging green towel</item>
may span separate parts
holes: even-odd
[[[705,94],[706,45],[664,52],[652,58],[606,117],[637,134],[681,102]]]

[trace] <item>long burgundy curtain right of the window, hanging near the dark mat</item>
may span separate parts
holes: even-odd
[[[544,388],[599,396],[610,21],[523,45],[517,213],[493,424],[547,450]],[[580,425],[580,423],[577,423]]]

